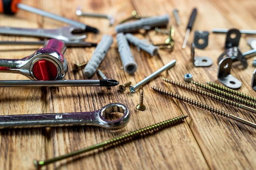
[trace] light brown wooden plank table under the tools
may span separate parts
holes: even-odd
[[[132,85],[155,72],[166,63],[175,59],[175,66],[144,87],[131,94],[129,90],[120,92],[118,86],[106,87],[52,87],[52,88],[9,88],[0,87],[1,115],[64,113],[94,111],[106,104],[120,102],[131,112],[130,122],[123,129],[109,131],[94,126],[73,126],[56,128],[3,129],[0,131],[0,169],[31,170],[32,160],[45,160],[74,150],[85,148],[112,137],[134,131],[136,129],[164,121],[182,114],[189,117],[183,123],[163,129],[159,133],[134,139],[126,144],[112,148],[91,151],[76,157],[58,161],[42,169],[84,170],[84,169],[248,169],[256,168],[256,131],[255,129],[223,118],[209,111],[204,111],[176,99],[168,98],[154,92],[150,87],[159,86],[178,94],[195,98],[218,109],[236,116],[256,121],[256,115],[242,109],[221,104],[206,97],[187,92],[162,80],[169,78],[184,82],[186,73],[193,74],[193,80],[220,83],[217,78],[217,59],[225,51],[226,35],[211,32],[212,28],[256,28],[256,2],[254,0],[23,0],[22,3],[56,13],[99,28],[99,34],[88,33],[85,41],[99,42],[105,34],[112,35],[114,43],[108,51],[99,69],[108,77],[116,79],[120,84],[128,81]],[[107,19],[79,17],[76,8],[88,13],[105,13],[115,17],[115,24],[109,25]],[[198,9],[193,30],[189,35],[186,48],[181,48],[186,25],[193,7]],[[173,9],[179,10],[181,25],[177,26]],[[130,45],[131,52],[138,65],[134,74],[127,74],[121,69],[122,63],[118,52],[115,26],[136,10],[141,16],[155,16],[168,13],[170,22],[166,26],[175,29],[175,48],[173,52],[159,50],[159,54],[151,57],[146,52],[138,52]],[[67,24],[40,15],[19,10],[15,15],[0,15],[1,26],[23,28],[59,28]],[[210,67],[195,67],[191,62],[191,43],[196,30],[209,31],[209,44],[204,50],[195,49],[195,55],[208,56],[213,60]],[[140,39],[149,39],[153,43],[163,43],[168,37],[154,30],[134,33]],[[255,35],[242,34],[240,50],[246,52],[251,48],[247,39]],[[38,41],[28,37],[1,37],[2,41]],[[0,58],[22,59],[42,46],[0,46]],[[83,79],[82,71],[73,72],[74,63],[90,60],[95,48],[67,48],[65,57],[68,64],[66,79]],[[243,69],[239,62],[234,62],[231,74],[243,84],[238,90],[251,96],[256,92],[251,87],[254,57],[247,59],[248,67]],[[27,80],[21,74],[1,73],[0,80]],[[91,79],[99,79],[94,74]],[[144,92],[145,111],[135,107],[139,102],[139,93]]]

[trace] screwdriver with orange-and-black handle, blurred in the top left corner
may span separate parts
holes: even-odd
[[[99,30],[97,28],[93,28],[93,27],[87,26],[81,22],[70,20],[68,18],[61,17],[59,15],[49,13],[49,12],[46,12],[46,11],[43,11],[43,10],[40,10],[40,9],[37,9],[34,7],[30,7],[28,5],[20,3],[20,0],[0,0],[0,13],[14,14],[18,11],[18,9],[23,9],[25,11],[29,11],[32,13],[36,13],[38,15],[52,18],[54,20],[65,22],[72,26],[82,27],[84,32],[99,33]]]

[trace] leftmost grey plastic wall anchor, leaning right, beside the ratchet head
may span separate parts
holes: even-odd
[[[84,70],[83,70],[83,75],[85,77],[91,77],[99,67],[101,61],[104,59],[106,56],[106,53],[108,52],[111,44],[113,43],[113,38],[110,35],[103,35],[101,38],[101,41],[95,48],[91,59],[88,61],[86,64]]]

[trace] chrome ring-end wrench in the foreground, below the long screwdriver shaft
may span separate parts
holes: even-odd
[[[110,113],[116,112],[124,115],[115,120],[107,119]],[[121,103],[111,103],[89,112],[4,115],[0,116],[0,129],[90,125],[115,130],[123,128],[129,119],[128,107]]]

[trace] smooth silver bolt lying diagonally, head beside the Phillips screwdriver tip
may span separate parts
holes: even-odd
[[[139,83],[137,83],[136,85],[129,86],[130,92],[131,93],[135,93],[135,90],[143,85],[145,85],[146,83],[148,83],[148,81],[152,80],[153,78],[155,78],[156,76],[158,76],[160,73],[162,73],[164,70],[167,70],[169,68],[171,68],[173,65],[175,65],[176,60],[173,60],[169,63],[167,63],[166,65],[164,65],[162,68],[160,68],[159,70],[157,70],[156,72],[154,72],[153,74],[150,74],[149,76],[147,76],[146,78],[144,78],[142,81],[140,81]]]

